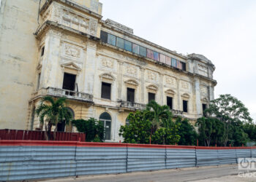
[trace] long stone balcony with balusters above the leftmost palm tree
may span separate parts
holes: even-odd
[[[76,92],[72,90],[64,90],[59,88],[47,87],[41,88],[33,94],[34,97],[37,95],[50,95],[53,97],[63,97],[71,100],[80,100],[87,103],[93,103],[94,96],[84,92]]]

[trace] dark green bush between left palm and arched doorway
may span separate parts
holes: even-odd
[[[86,133],[86,141],[104,141],[105,128],[102,122],[99,122],[97,119],[76,119],[72,121],[72,124],[74,124],[75,127],[78,129],[78,132]]]

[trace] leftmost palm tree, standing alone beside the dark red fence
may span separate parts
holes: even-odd
[[[56,126],[53,133],[53,140],[55,140],[57,124],[64,121],[65,124],[69,124],[72,119],[72,113],[65,105],[67,105],[66,98],[54,100],[50,96],[45,96],[42,98],[40,106],[36,109],[40,122],[42,124],[45,123],[45,138],[48,141],[50,140],[50,131],[53,125]]]

